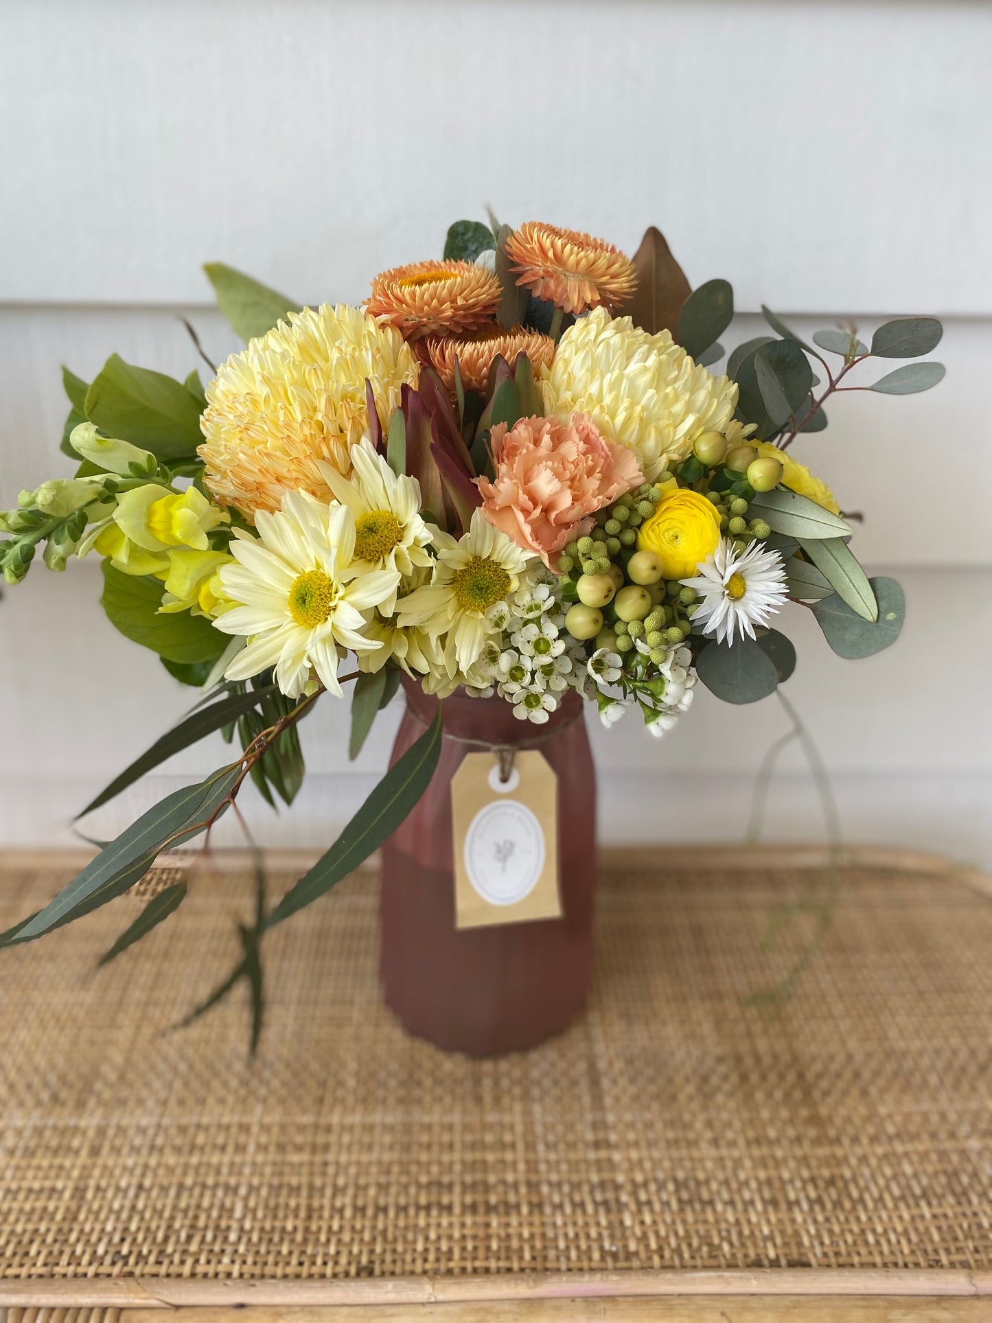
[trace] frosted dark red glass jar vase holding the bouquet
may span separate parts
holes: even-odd
[[[436,699],[403,679],[406,713],[393,762],[423,734]],[[569,692],[550,720],[520,721],[504,699],[444,700],[440,759],[421,802],[382,849],[386,1003],[405,1028],[451,1052],[495,1056],[559,1033],[585,1005],[593,978],[595,771],[582,699]],[[485,745],[532,745],[558,777],[558,865],[563,916],[455,927],[451,778]],[[472,746],[472,742],[477,745]]]

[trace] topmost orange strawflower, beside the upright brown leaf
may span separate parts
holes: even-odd
[[[526,221],[512,232],[507,257],[517,284],[565,312],[612,307],[638,282],[632,263],[612,243],[541,221]]]

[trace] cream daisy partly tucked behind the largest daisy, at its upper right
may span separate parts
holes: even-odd
[[[354,560],[360,573],[366,569],[399,570],[409,576],[417,568],[434,564],[426,550],[431,531],[421,519],[421,484],[415,478],[397,476],[377,454],[368,437],[352,446],[352,476],[341,478],[323,460],[320,472],[337,500],[354,516]],[[395,594],[380,606],[392,615]]]

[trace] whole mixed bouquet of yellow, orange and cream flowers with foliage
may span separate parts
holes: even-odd
[[[247,347],[205,388],[118,356],[91,382],[66,370],[75,472],[0,515],[0,565],[19,583],[38,546],[53,570],[102,557],[110,620],[204,691],[86,811],[213,730],[237,732],[241,753],[0,943],[122,894],[163,849],[209,833],[247,777],[291,802],[296,724],[345,684],[352,757],[403,675],[537,725],[574,689],[604,724],[638,710],[660,736],[698,683],[739,704],[786,680],[795,651],[774,622],[792,603],[840,656],[895,640],[898,585],[865,576],[850,521],[791,447],[827,426],[854,369],[930,353],[935,319],[888,321],[870,347],[853,327],[807,344],[763,310],[774,333],[717,373],[730,286],[692,291],[655,229],[630,259],[552,225],[459,221],[440,261],[377,275],[362,308],[300,308],[206,270]],[[942,376],[914,361],[869,389]],[[250,978],[261,933],[402,822],[439,741],[440,716],[319,864],[259,902],[235,972]],[[181,898],[152,900],[115,951]]]

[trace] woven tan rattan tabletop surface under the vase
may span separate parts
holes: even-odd
[[[69,873],[0,872],[0,927]],[[485,1062],[381,1005],[370,876],[272,934],[254,1062],[241,991],[164,1033],[249,885],[98,974],[135,901],[0,953],[0,1277],[992,1266],[992,902],[952,876],[845,868],[768,1015],[816,923],[768,917],[828,873],[608,871],[589,1012]]]

